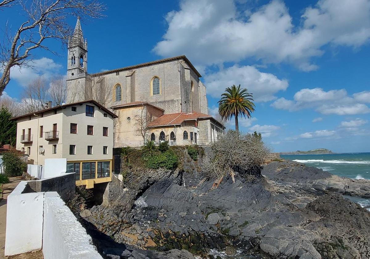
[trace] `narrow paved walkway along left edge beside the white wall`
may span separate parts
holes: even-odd
[[[0,201],[0,259],[4,259],[7,197],[22,180],[21,178],[21,176],[10,177],[10,183],[3,184],[4,199]]]

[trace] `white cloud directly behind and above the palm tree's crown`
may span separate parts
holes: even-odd
[[[226,87],[241,84],[253,94],[256,102],[267,102],[276,99],[274,94],[278,91],[285,91],[288,82],[277,78],[270,73],[258,71],[253,66],[234,65],[217,73],[207,75],[205,85],[209,95],[220,98]]]

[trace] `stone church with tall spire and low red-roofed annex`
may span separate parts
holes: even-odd
[[[68,43],[67,102],[94,99],[110,108],[118,116],[114,147],[207,144],[224,131],[208,114],[206,86],[186,56],[89,74],[87,49],[78,19]]]

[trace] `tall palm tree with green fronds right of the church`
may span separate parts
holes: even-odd
[[[249,94],[247,89],[240,89],[240,85],[235,85],[225,89],[218,101],[218,113],[222,119],[231,120],[235,117],[235,131],[239,132],[238,117],[250,118],[255,111],[253,94]]]

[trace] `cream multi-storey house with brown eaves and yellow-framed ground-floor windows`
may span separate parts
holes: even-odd
[[[16,148],[35,165],[44,165],[46,158],[67,158],[67,172],[77,173],[76,184],[91,188],[111,181],[114,118],[93,100],[14,117]]]

